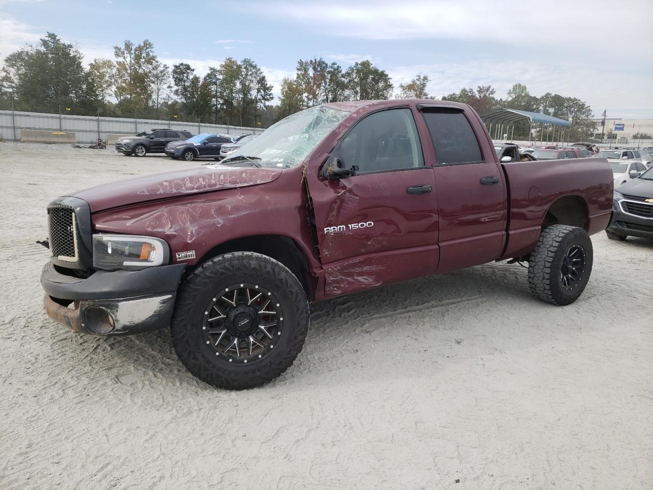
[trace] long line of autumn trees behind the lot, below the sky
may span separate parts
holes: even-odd
[[[94,59],[88,69],[74,45],[47,33],[35,46],[5,58],[0,76],[0,107],[31,112],[74,108],[80,115],[138,117],[190,122],[268,127],[281,118],[322,103],[369,99],[434,99],[429,78],[418,74],[398,90],[389,74],[369,60],[347,69],[323,58],[300,59],[294,77],[281,80],[279,101],[272,104],[273,86],[255,61],[228,57],[204,76],[188,63],[162,63],[147,39],[114,46],[112,59]],[[496,108],[543,112],[569,120],[571,139],[594,133],[592,110],[575,97],[531,95],[515,84],[505,99],[492,86],[462,88],[442,97],[471,105],[479,114]],[[515,125],[515,139],[528,139],[528,123]]]

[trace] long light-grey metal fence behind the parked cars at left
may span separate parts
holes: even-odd
[[[103,118],[101,116],[71,116],[0,110],[0,140],[20,141],[22,129],[44,131],[74,131],[79,143],[106,142],[110,134],[133,135],[153,127],[183,129],[189,133],[219,133],[226,135],[258,134],[264,129],[231,125],[161,121],[152,119]]]

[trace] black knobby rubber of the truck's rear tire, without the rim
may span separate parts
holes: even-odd
[[[575,245],[584,250],[584,267],[573,289],[565,289],[561,273],[565,256]],[[579,227],[551,225],[539,235],[528,263],[528,284],[542,301],[564,306],[576,301],[592,273],[592,240]]]

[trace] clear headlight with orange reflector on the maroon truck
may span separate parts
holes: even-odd
[[[159,238],[133,235],[93,235],[93,267],[133,269],[153,267],[168,261],[170,249]]]

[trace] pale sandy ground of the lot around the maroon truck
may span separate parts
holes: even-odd
[[[651,489],[653,241],[592,237],[559,308],[505,263],[313,305],[295,365],[219,391],[168,332],[42,310],[45,206],[161,156],[0,143],[3,489]]]

